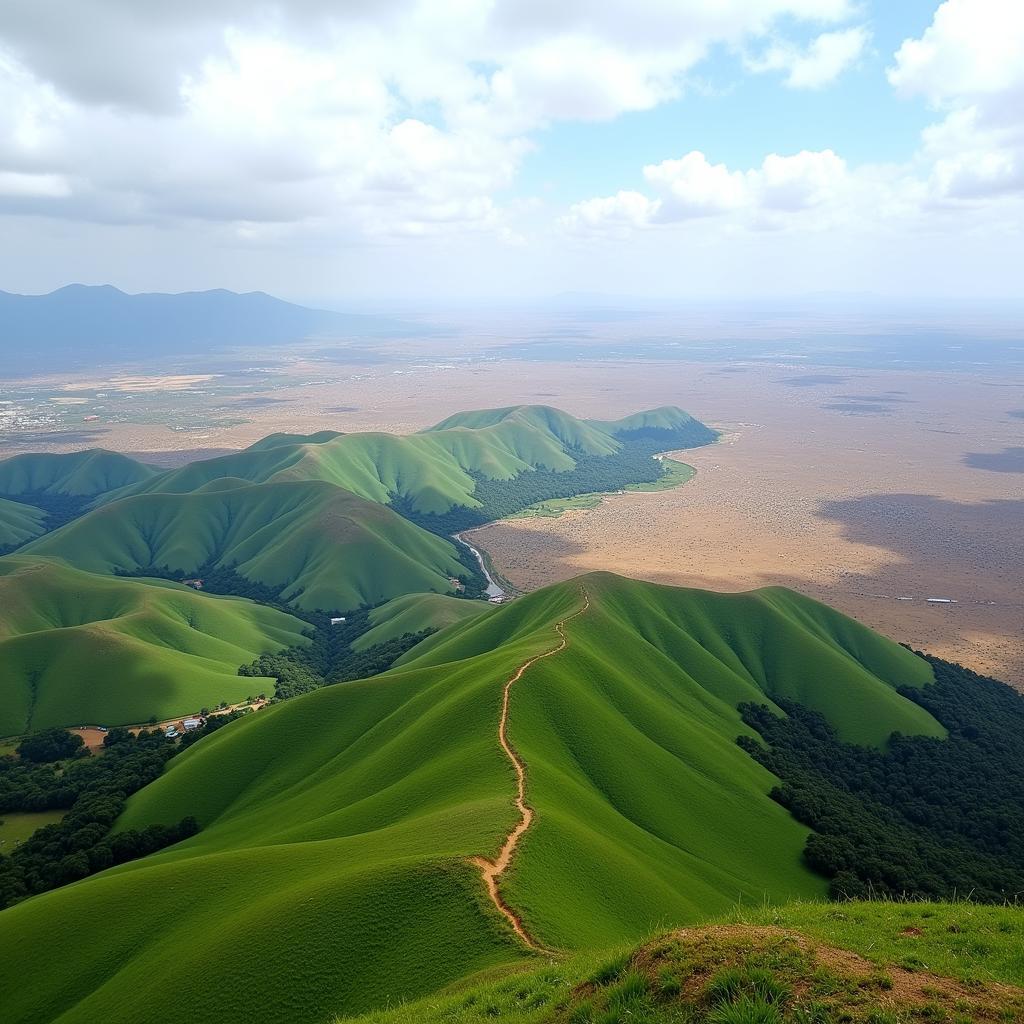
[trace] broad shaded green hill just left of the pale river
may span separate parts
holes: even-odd
[[[454,546],[396,512],[317,480],[214,480],[187,494],[102,505],[41,538],[34,554],[95,572],[215,563],[283,586],[302,608],[350,609],[410,592],[451,592]]]

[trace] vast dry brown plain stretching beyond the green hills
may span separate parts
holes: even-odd
[[[598,568],[729,591],[783,584],[1024,686],[1020,377],[676,360],[291,372],[296,386],[247,406],[245,424],[202,436],[112,425],[100,443],[168,464],[274,430],[409,431],[516,402],[602,419],[679,404],[725,432],[686,454],[690,483],[478,532],[516,587]]]

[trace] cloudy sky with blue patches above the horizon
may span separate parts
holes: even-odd
[[[4,0],[0,289],[1018,298],[1021,0]]]

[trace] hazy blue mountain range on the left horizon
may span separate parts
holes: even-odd
[[[386,317],[310,309],[264,292],[128,295],[110,285],[69,285],[48,295],[0,292],[0,355],[14,370],[54,355],[95,362],[409,330]]]

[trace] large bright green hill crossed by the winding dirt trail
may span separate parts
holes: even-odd
[[[496,856],[518,819],[502,691],[561,622],[567,647],[511,693],[537,818],[502,882],[549,947],[824,892],[801,862],[806,829],[735,743],[740,700],[799,691],[878,742],[941,733],[893,690],[926,683],[927,665],[814,602],[608,574],[551,587],[175,759],[121,827],[193,814],[200,835],[0,914],[10,1019],[321,1021],[536,961],[468,858]],[[113,908],[118,927],[97,930]]]

